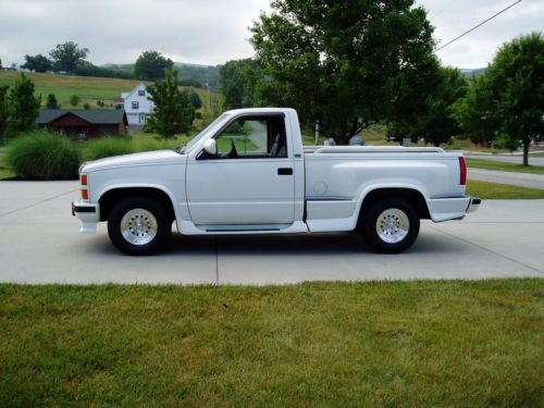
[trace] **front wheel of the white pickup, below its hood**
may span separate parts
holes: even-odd
[[[149,197],[127,197],[113,207],[108,218],[110,239],[126,255],[156,254],[171,233],[166,209]]]

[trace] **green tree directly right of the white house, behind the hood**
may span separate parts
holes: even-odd
[[[145,132],[157,132],[169,138],[190,131],[195,107],[190,103],[188,91],[180,91],[176,70],[166,70],[164,81],[150,86],[148,91],[154,109]]]

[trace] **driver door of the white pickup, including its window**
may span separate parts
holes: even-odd
[[[283,114],[235,118],[214,138],[215,157],[197,153],[187,163],[193,222],[218,230],[292,224],[295,175]]]

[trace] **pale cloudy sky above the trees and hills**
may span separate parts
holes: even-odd
[[[516,0],[417,0],[428,10],[438,46]],[[0,0],[0,58],[4,66],[24,54],[48,54],[72,40],[87,59],[133,63],[145,50],[176,62],[215,65],[248,58],[248,27],[269,0]],[[445,65],[486,66],[505,41],[544,30],[544,1],[522,0],[495,20],[437,51]]]

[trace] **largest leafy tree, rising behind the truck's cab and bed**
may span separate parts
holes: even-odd
[[[275,0],[251,27],[260,104],[296,108],[346,144],[424,108],[437,66],[425,11],[403,1]]]

